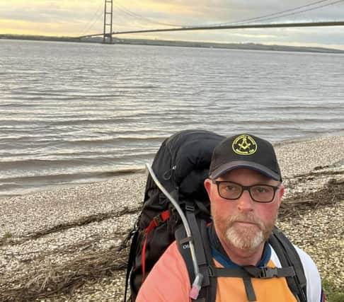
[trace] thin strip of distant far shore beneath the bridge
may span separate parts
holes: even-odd
[[[34,41],[51,41],[51,42],[84,42],[84,43],[102,43],[103,37],[54,37],[43,35],[7,35],[0,34],[0,40],[34,40]],[[344,54],[344,50],[336,50],[325,47],[302,47],[302,46],[285,46],[285,45],[263,45],[256,43],[215,43],[215,42],[188,42],[173,40],[148,40],[148,39],[120,39],[113,37],[114,45],[151,45],[151,46],[172,46],[172,47],[200,47],[216,48],[227,50],[267,50],[279,52],[318,52]]]

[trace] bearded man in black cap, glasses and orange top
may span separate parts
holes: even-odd
[[[285,191],[273,146],[241,134],[215,149],[205,180],[213,223],[208,228],[216,267],[281,267],[268,238]],[[306,275],[308,302],[320,302],[321,279],[309,255],[297,248]],[[252,278],[253,301],[297,301],[285,277]],[[248,301],[241,277],[218,277],[216,301]],[[190,301],[190,279],[176,242],[164,252],[142,284],[137,302]],[[252,301],[252,299],[250,299]]]

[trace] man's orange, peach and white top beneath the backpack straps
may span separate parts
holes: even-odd
[[[271,248],[272,249],[272,248]],[[321,279],[316,265],[309,255],[297,248],[307,279],[307,301],[321,301]],[[217,267],[222,267],[214,261]],[[280,267],[272,249],[270,267]],[[284,277],[270,279],[252,278],[258,302],[296,302]],[[176,242],[161,256],[142,284],[137,302],[190,302],[190,278]],[[246,302],[247,296],[242,278],[218,277],[216,302]]]

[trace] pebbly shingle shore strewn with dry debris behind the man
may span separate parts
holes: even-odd
[[[343,286],[344,137],[275,145],[286,186],[277,225]],[[146,175],[0,199],[0,301],[122,301]]]

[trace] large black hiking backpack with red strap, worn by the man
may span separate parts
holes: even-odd
[[[238,272],[236,269],[234,272],[233,269],[223,269],[219,272],[213,265],[207,243],[207,224],[212,221],[210,201],[203,182],[208,177],[212,151],[222,139],[224,137],[213,132],[185,130],[173,134],[161,144],[149,169],[142,210],[125,239],[125,242],[132,239],[125,301],[128,283],[130,301],[134,302],[147,274],[174,240],[188,268],[192,285],[190,296],[195,301],[215,301],[218,274],[243,277],[248,301],[256,300],[251,277],[277,277],[277,271]],[[190,228],[189,234],[185,232],[185,223]],[[280,270],[280,276],[284,273],[297,300],[306,302],[306,278],[294,246],[277,228],[274,228],[269,243],[284,269],[283,272]],[[190,252],[191,248],[194,252]]]

